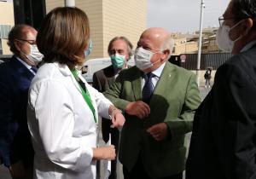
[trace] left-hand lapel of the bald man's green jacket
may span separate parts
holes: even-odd
[[[142,99],[142,74],[143,72],[137,69],[137,71],[133,74],[134,80],[131,81],[135,101]]]

